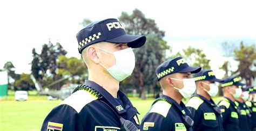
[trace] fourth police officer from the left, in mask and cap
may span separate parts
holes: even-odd
[[[239,78],[237,77],[227,77],[224,79],[223,93],[224,99],[219,102],[219,107],[223,116],[223,128],[224,130],[240,130],[239,128],[239,115],[240,111],[237,106],[235,106],[235,99],[239,98],[242,94]]]

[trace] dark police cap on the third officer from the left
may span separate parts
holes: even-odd
[[[195,81],[208,80],[212,82],[223,82],[224,80],[217,79],[212,70],[201,70],[200,72],[193,75]]]

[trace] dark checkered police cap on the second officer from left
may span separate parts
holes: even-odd
[[[197,73],[199,71],[201,71],[201,67],[189,66],[186,60],[181,57],[166,60],[156,69],[158,81],[166,75],[173,73]]]

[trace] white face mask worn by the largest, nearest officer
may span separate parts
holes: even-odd
[[[100,49],[99,47],[97,47]],[[100,49],[105,51],[103,49]],[[107,53],[111,53],[109,51],[105,51]],[[116,51],[111,54],[114,54],[114,58],[116,58],[116,64],[114,64],[110,68],[106,68],[104,65],[100,63],[106,70],[112,75],[112,77],[118,81],[122,81],[125,78],[129,77],[132,74],[132,71],[135,67],[135,56],[131,48],[127,48],[124,50]]]

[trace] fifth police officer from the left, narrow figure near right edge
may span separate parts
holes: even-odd
[[[245,84],[241,84],[238,87],[242,89],[242,95],[234,101],[235,106],[240,109],[239,115],[239,127],[240,130],[250,130],[250,118],[251,113],[247,108],[245,101],[249,98],[248,88]]]

